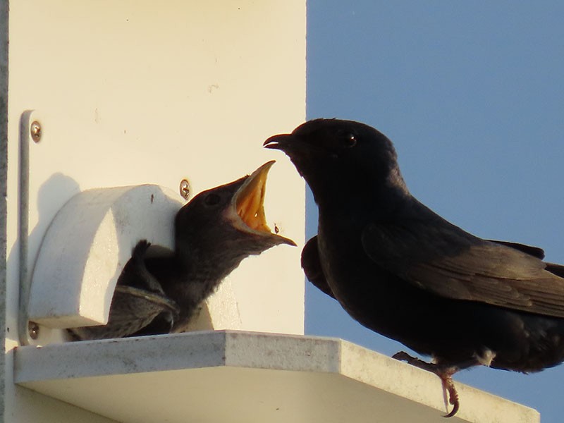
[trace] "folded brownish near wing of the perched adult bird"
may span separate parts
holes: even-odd
[[[536,249],[531,255],[438,219],[372,223],[362,245],[379,266],[443,297],[564,317],[564,268],[542,262]]]

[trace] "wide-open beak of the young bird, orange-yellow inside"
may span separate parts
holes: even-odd
[[[247,230],[255,233],[268,234],[280,238],[281,243],[296,245],[293,240],[284,238],[281,235],[272,233],[266,224],[266,215],[264,214],[264,195],[266,193],[266,176],[269,173],[274,160],[263,164],[254,171],[241,185],[233,196],[235,210],[240,219],[247,226]]]

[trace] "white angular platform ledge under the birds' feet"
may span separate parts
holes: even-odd
[[[118,422],[446,423],[433,374],[334,338],[206,331],[17,348],[15,381]],[[448,423],[539,423],[457,384]]]

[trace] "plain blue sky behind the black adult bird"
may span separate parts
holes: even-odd
[[[378,128],[435,212],[564,263],[564,2],[308,0],[307,45],[307,118]],[[309,283],[306,293],[306,333],[405,349]],[[564,415],[564,366],[455,379],[537,408],[543,423]]]

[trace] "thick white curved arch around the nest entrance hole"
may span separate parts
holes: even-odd
[[[59,329],[106,324],[116,282],[137,242],[152,243],[153,255],[172,253],[174,217],[183,205],[176,197],[158,185],[138,185],[71,198],[42,241],[30,321]]]

